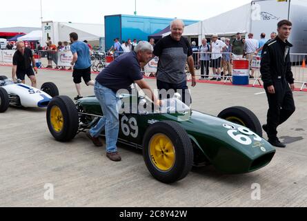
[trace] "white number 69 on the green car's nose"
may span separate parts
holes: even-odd
[[[238,132],[242,134],[235,135],[235,133],[238,133]],[[238,130],[229,130],[227,131],[227,133],[228,135],[230,135],[230,137],[232,137],[233,140],[239,142],[240,144],[244,144],[244,145],[252,144],[252,140],[247,135],[253,135],[255,141],[260,142],[262,140],[261,137],[259,137],[259,135],[250,131],[248,128],[240,127],[238,128]]]

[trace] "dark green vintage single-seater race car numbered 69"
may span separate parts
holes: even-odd
[[[164,111],[154,113],[148,111],[152,106],[148,97],[121,94],[120,98],[118,141],[143,149],[148,170],[160,182],[181,180],[193,165],[212,164],[224,173],[249,173],[269,164],[275,155],[275,148],[261,137],[259,120],[247,108],[227,108],[214,117],[192,111],[179,97],[172,97],[163,101]],[[135,104],[137,110],[127,111],[127,106]],[[95,126],[102,116],[96,97],[75,104],[67,96],[58,96],[49,103],[46,118],[53,137],[68,142]]]

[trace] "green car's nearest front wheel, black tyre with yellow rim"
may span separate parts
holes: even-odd
[[[157,122],[143,137],[143,158],[160,182],[177,182],[192,169],[194,153],[188,133],[177,122]]]

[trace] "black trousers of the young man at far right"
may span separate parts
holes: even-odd
[[[268,138],[277,139],[277,126],[286,122],[286,120],[295,112],[295,103],[293,93],[286,79],[279,79],[274,82],[275,94],[268,93]]]

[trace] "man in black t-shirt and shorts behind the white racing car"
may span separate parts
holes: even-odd
[[[13,56],[12,79],[13,81],[21,79],[22,83],[25,84],[25,76],[27,75],[30,78],[32,87],[36,88],[37,78],[35,77],[33,69],[35,73],[37,73],[37,66],[35,65],[35,59],[32,55],[32,51],[30,48],[25,47],[23,41],[17,41],[16,46],[17,51],[14,52]]]

